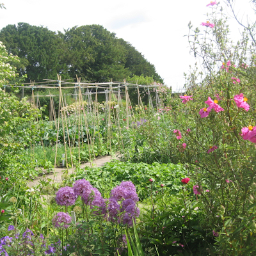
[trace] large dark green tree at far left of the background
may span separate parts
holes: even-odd
[[[28,81],[56,79],[56,74],[67,76],[67,65],[62,58],[65,44],[49,29],[27,23],[8,25],[1,30],[0,40],[8,52],[19,56],[20,65],[17,68],[20,75],[28,76]]]

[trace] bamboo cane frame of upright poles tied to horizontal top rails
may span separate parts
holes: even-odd
[[[52,122],[52,125],[54,125],[57,129],[57,136],[56,136],[56,150],[55,150],[55,161],[54,161],[54,170],[56,168],[56,157],[57,157],[57,151],[58,151],[58,138],[59,138],[59,132],[60,129],[62,129],[63,134],[65,132],[67,133],[67,141],[64,139],[64,147],[65,147],[65,162],[66,162],[66,168],[68,169],[68,166],[74,167],[73,161],[72,161],[72,146],[75,146],[75,138],[70,138],[70,134],[68,132],[68,125],[70,125],[69,121],[69,115],[67,110],[67,102],[66,102],[66,96],[72,96],[74,97],[74,104],[76,104],[77,108],[76,111],[74,111],[74,115],[76,116],[76,125],[78,128],[78,134],[80,132],[83,132],[83,125],[86,127],[86,138],[88,143],[88,151],[89,151],[89,158],[90,162],[92,163],[92,159],[95,158],[95,152],[93,150],[93,141],[95,139],[95,129],[93,134],[90,134],[88,132],[88,118],[87,115],[89,113],[93,113],[94,120],[93,120],[93,127],[99,126],[99,106],[98,106],[98,96],[100,94],[105,95],[105,109],[106,112],[106,129],[108,129],[108,145],[109,150],[111,150],[111,138],[112,138],[112,125],[113,122],[115,122],[116,127],[118,127],[118,140],[120,145],[123,145],[122,141],[122,132],[120,130],[120,109],[124,110],[125,112],[125,121],[127,122],[127,129],[131,126],[131,122],[136,122],[136,117],[134,115],[134,106],[131,104],[131,100],[129,97],[129,89],[132,89],[134,91],[137,91],[138,94],[138,108],[139,115],[137,115],[137,118],[144,118],[145,116],[145,106],[143,106],[143,100],[141,99],[141,93],[140,88],[143,88],[145,91],[147,91],[148,94],[148,106],[147,108],[152,111],[152,113],[155,113],[154,108],[161,108],[161,102],[159,100],[159,95],[157,94],[157,84],[152,85],[141,85],[141,84],[132,84],[127,83],[127,81],[124,79],[124,81],[120,82],[113,82],[109,81],[107,83],[92,83],[92,82],[81,82],[81,79],[77,77],[77,81],[74,82],[70,79],[61,81],[61,76],[58,76],[57,80],[51,80],[51,79],[44,79],[45,81],[39,82],[39,83],[26,83],[23,86],[19,86],[16,84],[6,84],[4,85],[4,91],[6,90],[6,87],[15,87],[15,88],[31,88],[31,104],[33,108],[40,108],[40,97],[49,97],[49,120]],[[74,89],[74,93],[64,93],[67,89]],[[150,88],[154,88],[154,91],[156,95],[156,105],[154,107],[152,95],[150,92]],[[59,93],[51,93],[51,90],[56,89]],[[39,95],[36,90],[49,90],[49,94],[47,95]],[[93,97],[92,97],[93,96]],[[59,98],[59,106],[58,106],[58,115],[55,111],[55,104],[54,104],[54,98]],[[94,100],[93,100],[94,98]],[[123,98],[123,99],[122,99]],[[125,99],[125,104],[123,104],[123,101]],[[84,106],[84,101],[86,100],[87,104]],[[116,108],[116,111],[114,111],[114,118],[111,120],[111,109],[113,109],[113,106],[118,106]],[[38,123],[38,120],[36,120]],[[76,136],[76,134],[74,135]],[[91,141],[91,143],[90,143]],[[41,138],[42,147],[44,147],[43,140]],[[84,141],[80,141],[80,136],[78,136],[78,154],[80,159],[80,147],[83,146]],[[35,147],[35,145],[33,145]],[[31,146],[32,148],[32,146]],[[32,149],[31,149],[32,150]],[[69,151],[70,154],[70,161],[68,161],[67,158],[67,152]],[[45,156],[46,161],[46,156]]]

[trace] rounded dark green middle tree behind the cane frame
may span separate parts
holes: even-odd
[[[85,80],[118,81],[129,76],[125,68],[125,49],[100,25],[87,25],[67,29],[63,39],[68,45],[70,76]]]

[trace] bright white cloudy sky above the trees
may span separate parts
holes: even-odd
[[[188,24],[193,28],[207,21],[206,7],[211,0],[0,0],[6,10],[0,9],[0,29],[9,24],[26,22],[33,26],[44,26],[51,31],[61,31],[74,26],[99,24],[134,46],[156,67],[164,84],[177,91],[184,86],[184,72],[189,72],[196,60],[189,53]],[[250,12],[249,0],[235,0],[236,13],[245,19]],[[236,37],[237,25],[231,19],[231,30]],[[249,6],[249,8],[248,8]],[[240,30],[242,30],[240,28]],[[47,77],[45,77],[47,78]]]

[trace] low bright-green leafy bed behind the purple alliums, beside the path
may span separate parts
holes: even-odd
[[[168,188],[169,195],[175,195],[182,187],[180,180],[186,175],[186,170],[179,164],[145,164],[112,161],[102,168],[78,169],[75,179],[86,179],[99,189],[102,195],[109,195],[110,190],[123,180],[130,180],[137,188],[140,200],[150,196],[150,181],[154,179],[154,193],[162,191],[161,184]],[[73,177],[73,175],[72,175]]]

